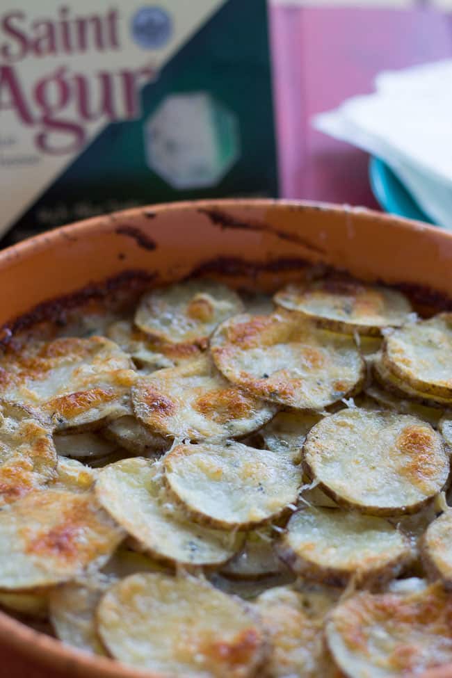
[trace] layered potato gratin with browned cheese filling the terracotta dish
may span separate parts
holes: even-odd
[[[4,328],[0,606],[162,676],[452,660],[449,316],[284,261],[276,308],[126,273]]]

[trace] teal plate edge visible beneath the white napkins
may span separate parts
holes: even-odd
[[[392,214],[405,216],[408,219],[434,222],[421,210],[417,202],[407,191],[400,179],[379,158],[371,157],[369,162],[369,179],[373,195],[382,209]]]

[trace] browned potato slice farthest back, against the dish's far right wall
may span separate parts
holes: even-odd
[[[412,312],[400,292],[355,280],[290,283],[274,299],[277,305],[315,318],[334,332],[380,334],[382,328],[403,325]]]

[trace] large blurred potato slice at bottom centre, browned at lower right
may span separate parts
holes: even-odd
[[[106,592],[97,623],[115,659],[164,675],[251,678],[266,659],[245,604],[191,577],[129,576]]]

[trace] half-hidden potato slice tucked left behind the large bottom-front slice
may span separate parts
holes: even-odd
[[[90,654],[106,656],[97,636],[95,612],[115,578],[99,572],[57,586],[49,595],[50,621],[63,643]]]

